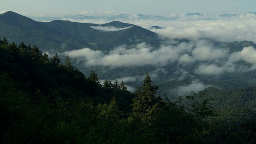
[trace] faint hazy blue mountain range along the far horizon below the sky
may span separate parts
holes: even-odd
[[[247,14],[256,14],[256,12],[248,12]],[[88,16],[88,15],[69,15],[69,16],[29,16],[32,20],[36,21],[53,21],[53,20],[71,20],[71,21],[83,21],[83,20],[106,20],[106,21],[127,21],[127,20],[160,20],[160,21],[175,21],[193,19],[193,20],[220,20],[222,18],[239,17],[241,14],[202,14],[199,12],[190,12],[186,14],[172,14],[172,16],[157,16],[150,14],[119,14],[114,16]]]

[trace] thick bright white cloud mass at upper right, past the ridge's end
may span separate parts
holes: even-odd
[[[250,15],[251,16],[251,15]],[[252,15],[254,16],[254,14]],[[164,29],[152,30],[165,38],[210,38],[220,42],[256,42],[256,18],[246,16],[220,20],[174,20],[156,22]]]

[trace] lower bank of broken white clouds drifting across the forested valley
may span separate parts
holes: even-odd
[[[193,65],[196,74],[222,74],[224,72],[239,72],[254,70],[256,50],[253,47],[244,47],[241,51],[230,52],[229,48],[215,47],[209,40],[194,40],[176,45],[163,44],[154,49],[146,43],[126,48],[125,45],[110,50],[108,54],[101,51],[84,48],[64,52],[71,58],[85,60],[85,66],[129,67],[129,66],[168,66],[172,63],[183,66]],[[238,64],[239,61],[251,64],[246,67]]]

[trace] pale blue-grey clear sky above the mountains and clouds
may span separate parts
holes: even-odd
[[[237,14],[256,12],[256,0],[5,0],[0,13],[8,10],[25,16],[68,14],[172,14],[200,12]]]

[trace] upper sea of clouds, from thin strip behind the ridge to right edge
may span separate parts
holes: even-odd
[[[82,11],[80,14],[101,14],[101,19],[97,20],[73,20],[74,22],[85,22],[104,24],[111,22],[107,20],[114,12],[90,12]],[[110,15],[108,14],[110,13]],[[145,15],[150,18],[149,15]],[[158,33],[164,38],[188,38],[191,40],[207,38],[219,42],[233,42],[242,40],[251,40],[256,43],[256,15],[255,14],[239,14],[231,17],[221,17],[212,14],[203,14],[203,16],[186,16],[186,14],[163,14],[166,20],[155,20],[154,18],[143,20],[138,14],[128,14],[125,18],[116,18],[121,22],[135,24],[143,28],[151,29],[152,26],[160,26],[163,29],[154,29],[153,32]],[[170,18],[174,18],[170,20]],[[168,20],[169,19],[169,20]],[[203,20],[205,19],[205,20]],[[208,20],[209,19],[209,20]]]

